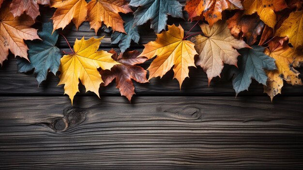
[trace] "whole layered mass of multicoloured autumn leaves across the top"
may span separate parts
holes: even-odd
[[[181,25],[166,25],[167,15],[183,18],[177,0],[0,0],[0,4],[0,64],[10,50],[30,61],[17,58],[19,72],[34,69],[39,84],[49,71],[60,71],[59,85],[64,84],[72,102],[79,92],[79,80],[86,91],[99,96],[100,85],[116,79],[121,94],[131,100],[135,94],[132,79],[145,83],[164,76],[172,67],[180,88],[188,67],[201,66],[210,83],[220,77],[224,63],[236,66],[232,83],[237,94],[248,89],[251,78],[264,85],[271,99],[281,93],[283,80],[303,84],[294,69],[303,61],[302,0],[187,0],[188,20],[197,20],[201,28],[196,36],[188,32],[184,36]],[[40,15],[39,4],[56,11],[53,24],[44,23],[37,32],[30,26]],[[131,41],[139,41],[138,27],[149,20],[159,33],[156,40],[144,45],[142,53],[127,51]],[[78,29],[84,21],[96,33],[100,28],[112,32],[112,44],[118,44],[121,54],[98,50],[103,37],[83,37],[62,57],[55,46],[58,29],[70,22]],[[34,41],[25,44],[24,40]],[[152,58],[147,79],[147,71],[136,64]]]

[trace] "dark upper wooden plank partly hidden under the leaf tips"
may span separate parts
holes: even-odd
[[[108,49],[104,49],[108,50]],[[142,64],[144,68],[147,68],[150,62]],[[301,70],[302,71],[302,70]],[[162,79],[152,78],[150,83],[139,84],[134,83],[136,87],[137,95],[229,95],[235,96],[235,91],[232,88],[231,80],[229,79],[229,72],[223,72],[222,78],[214,78],[211,85],[208,86],[208,80],[203,70],[198,67],[190,68],[189,76],[182,84],[182,89],[179,88],[179,83],[173,78],[172,70],[167,73]],[[42,82],[38,87],[37,81],[34,75],[28,73],[18,73],[16,67],[16,60],[10,57],[9,61],[5,61],[3,67],[0,69],[0,95],[63,95],[63,86],[57,86],[59,83],[59,73],[55,77],[52,73],[48,74],[47,80]],[[80,95],[94,95],[93,93],[85,93],[82,85],[80,86]],[[120,95],[118,89],[116,89],[115,83],[111,83],[107,87],[100,88],[101,95]],[[303,88],[301,86],[291,86],[285,83],[282,89],[284,96],[303,95]],[[79,95],[79,93],[77,94]],[[241,92],[239,95],[262,95],[263,86],[253,80],[249,91]],[[279,95],[278,95],[279,96]],[[277,96],[277,97],[278,97]],[[275,97],[276,98],[276,97]]]

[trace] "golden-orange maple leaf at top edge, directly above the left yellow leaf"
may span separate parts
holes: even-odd
[[[86,20],[87,2],[85,0],[50,0],[51,6],[57,8],[53,17],[54,30],[64,29],[71,21],[79,26]]]

